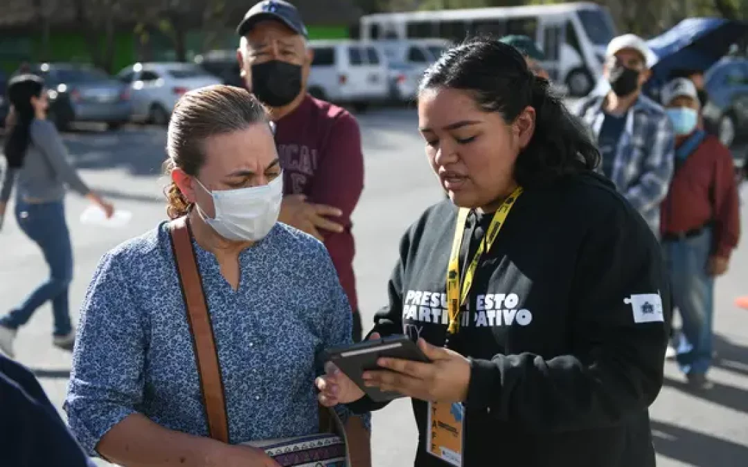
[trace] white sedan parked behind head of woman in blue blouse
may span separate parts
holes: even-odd
[[[132,120],[166,125],[177,100],[184,93],[221,84],[221,79],[194,64],[134,64],[117,74],[130,87]]]

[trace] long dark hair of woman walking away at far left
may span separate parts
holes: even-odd
[[[40,97],[43,88],[44,81],[37,75],[18,75],[8,83],[7,97],[13,106],[10,133],[4,146],[8,168],[23,166],[26,149],[31,143],[31,122],[35,115],[31,97]]]

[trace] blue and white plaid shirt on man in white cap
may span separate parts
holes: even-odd
[[[592,130],[595,140],[605,118],[605,96],[590,96],[577,105],[574,114]],[[660,105],[640,96],[629,109],[625,129],[613,161],[611,181],[642,214],[657,237],[660,236],[660,203],[672,179],[675,134]]]

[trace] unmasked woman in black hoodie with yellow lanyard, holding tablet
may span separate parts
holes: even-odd
[[[653,467],[669,293],[652,232],[594,173],[597,149],[496,40],[445,52],[418,114],[450,200],[402,238],[372,335],[419,338],[431,362],[364,374],[412,398],[415,465]],[[325,405],[381,406],[334,368],[317,386]]]

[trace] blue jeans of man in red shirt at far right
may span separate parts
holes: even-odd
[[[707,272],[711,251],[711,229],[692,238],[663,242],[673,300],[683,321],[675,348],[685,374],[706,374],[711,365],[714,278]]]

